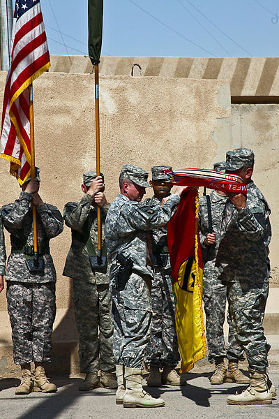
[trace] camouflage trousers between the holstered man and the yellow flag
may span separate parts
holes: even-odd
[[[174,316],[172,270],[154,268],[151,335],[144,360],[147,365],[170,367],[180,360]]]

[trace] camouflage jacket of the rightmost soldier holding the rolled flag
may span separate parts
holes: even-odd
[[[238,211],[227,200],[216,257],[216,263],[223,267],[223,281],[252,284],[269,280],[270,213],[254,182],[247,185],[246,208]]]

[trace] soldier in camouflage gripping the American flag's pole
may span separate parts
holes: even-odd
[[[20,197],[1,210],[3,226],[12,245],[6,270],[8,313],[13,337],[15,364],[22,368],[22,381],[15,394],[32,391],[55,392],[56,385],[45,376],[44,364],[50,362],[54,322],[56,272],[50,256],[50,239],[63,230],[63,218],[56,207],[43,203],[38,194],[39,177],[27,179]],[[36,274],[27,263],[33,260],[32,203],[37,213],[38,256],[45,268]],[[34,383],[30,362],[35,362]]]

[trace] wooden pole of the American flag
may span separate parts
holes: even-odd
[[[33,109],[33,83],[30,84],[30,103],[29,103],[29,118],[30,118],[30,156],[31,156],[31,179],[35,179],[35,141],[34,141],[34,109]],[[36,206],[32,204],[33,212],[33,245],[34,245],[34,264],[38,267],[38,237],[37,237],[37,213]]]

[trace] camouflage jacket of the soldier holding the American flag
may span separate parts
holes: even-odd
[[[22,238],[27,246],[33,246],[33,216],[32,195],[21,192],[20,197],[14,203],[4,205],[1,210],[3,226],[18,242]],[[45,247],[49,240],[63,231],[63,218],[54,205],[43,204],[37,208],[37,235],[38,249]],[[56,272],[50,254],[44,254],[45,272],[43,275],[31,275],[25,263],[24,253],[11,253],[8,258],[6,281],[45,283],[55,282]]]

